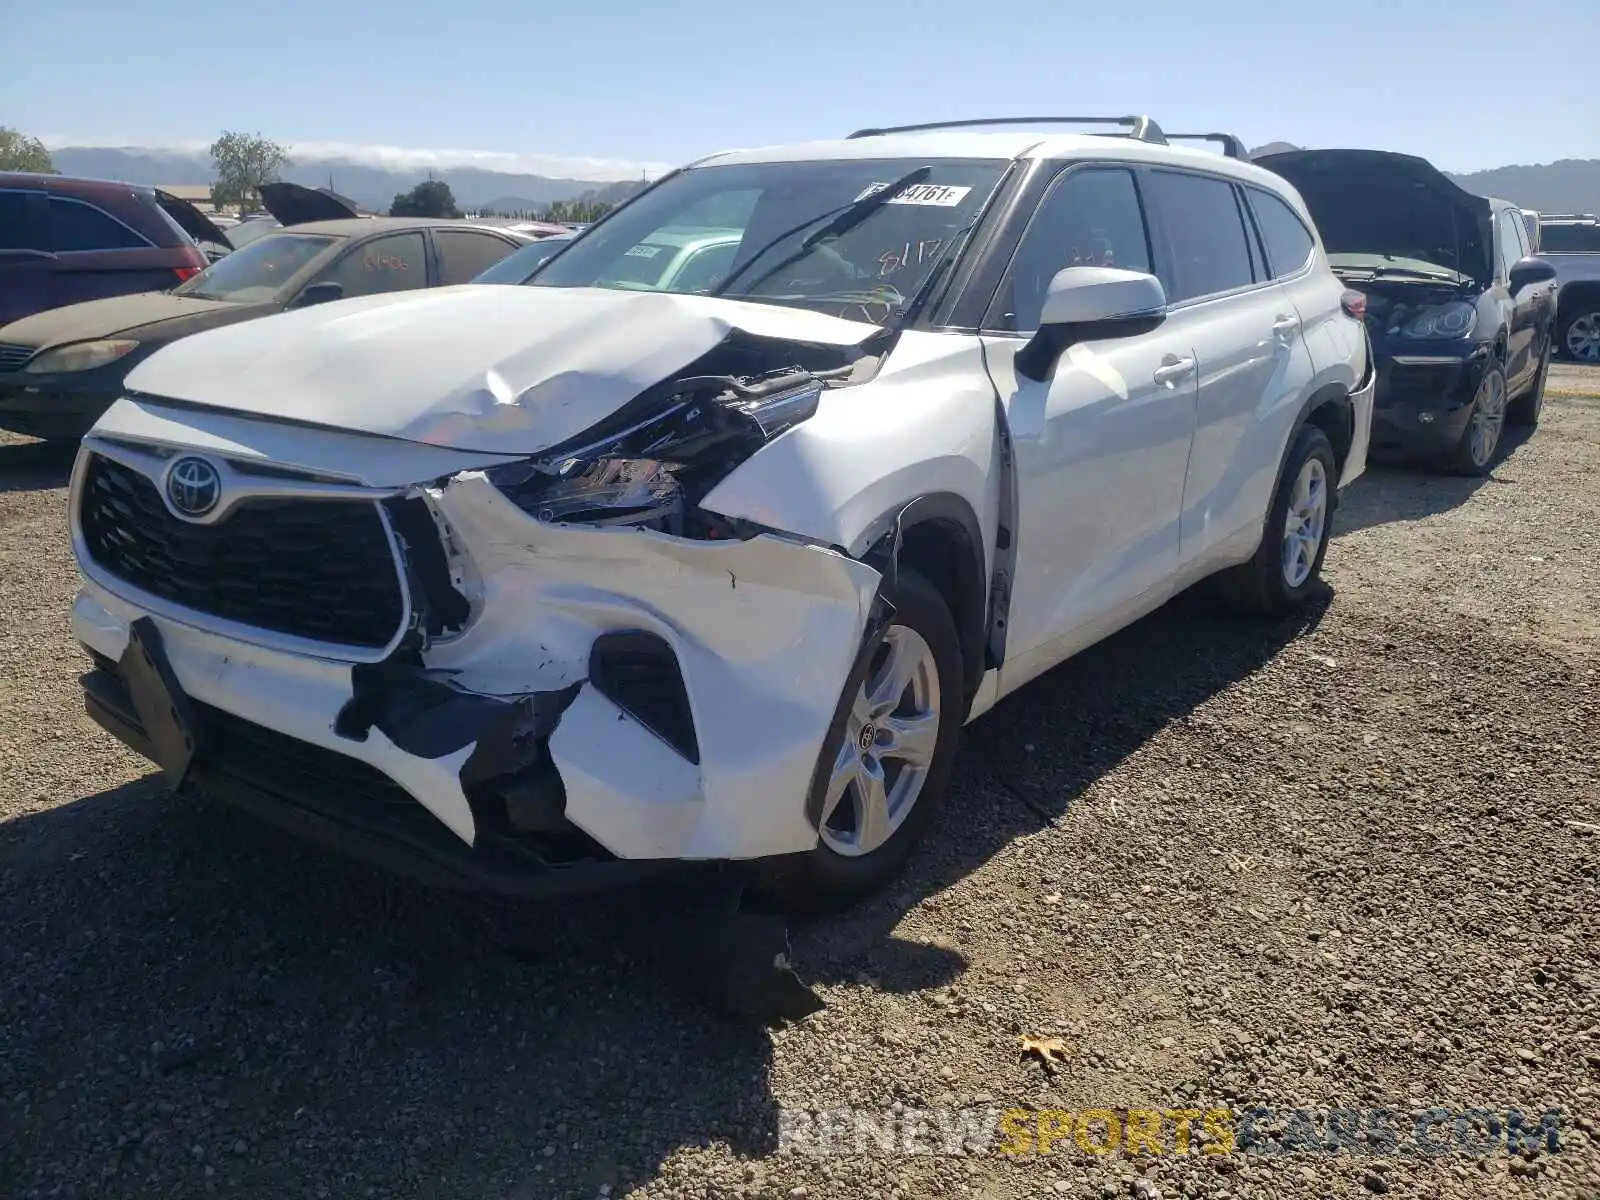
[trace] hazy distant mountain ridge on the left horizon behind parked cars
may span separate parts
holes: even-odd
[[[51,150],[50,157],[62,174],[88,174],[130,184],[210,184],[213,179],[211,158],[203,150],[64,146]],[[578,200],[590,194],[610,198],[618,189],[627,189],[622,194],[632,195],[642,186],[632,181],[549,179],[542,174],[486,171],[478,166],[437,168],[432,174],[450,184],[461,208],[475,210],[493,203],[496,211],[538,210],[552,200]],[[427,171],[301,155],[283,171],[283,178],[310,187],[333,187],[363,208],[387,213],[395,195],[410,192],[427,178]]]

